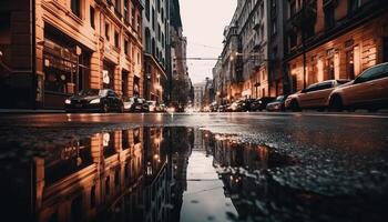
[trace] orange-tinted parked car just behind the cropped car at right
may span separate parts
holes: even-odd
[[[288,95],[285,101],[285,108],[292,111],[300,111],[303,109],[323,110],[327,107],[331,91],[338,85],[349,81],[350,80],[326,80],[310,84],[306,89]]]

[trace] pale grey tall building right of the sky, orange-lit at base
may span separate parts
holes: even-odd
[[[243,72],[241,95],[269,95],[267,1],[241,1],[238,14],[239,62]]]

